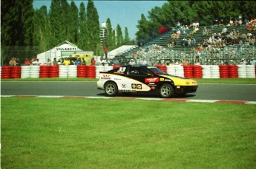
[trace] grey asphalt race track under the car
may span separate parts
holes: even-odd
[[[6,82],[1,81],[1,95],[105,97],[96,82]],[[119,95],[117,97],[123,97]],[[125,97],[159,97],[157,94],[125,94]],[[256,85],[199,84],[196,93],[174,99],[256,101]]]

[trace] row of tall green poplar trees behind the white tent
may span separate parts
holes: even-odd
[[[67,40],[80,49],[102,55],[122,44],[129,44],[128,29],[125,35],[119,24],[112,31],[111,19],[107,19],[107,38],[103,46],[99,39],[99,15],[93,0],[79,8],[74,1],[52,0],[50,9],[43,5],[33,9],[33,0],[1,1],[1,63],[10,58],[30,58]]]

